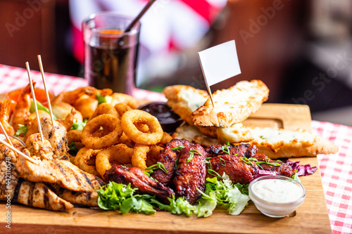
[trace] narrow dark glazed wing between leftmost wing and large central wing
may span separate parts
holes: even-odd
[[[166,171],[158,169],[151,174],[151,177],[155,178],[157,181],[162,183],[164,186],[170,185],[172,178],[175,175],[175,162],[180,157],[180,152],[183,147],[189,147],[189,141],[185,139],[173,139],[169,143],[166,144],[164,150],[158,156],[158,162],[161,162]],[[172,148],[181,147],[180,150],[172,150]]]

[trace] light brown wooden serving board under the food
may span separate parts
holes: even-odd
[[[246,120],[251,126],[277,126],[310,131],[306,105],[264,104]],[[301,164],[318,167],[316,157],[301,157]],[[11,230],[5,228],[5,204],[0,204],[0,233],[331,233],[320,171],[301,177],[307,196],[291,217],[274,219],[261,214],[253,202],[239,216],[217,208],[208,218],[177,216],[167,212],[153,215],[118,214],[100,209],[75,208],[50,212],[11,205]]]

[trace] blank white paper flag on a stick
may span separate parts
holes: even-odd
[[[209,86],[241,74],[234,40],[207,48],[198,54]]]

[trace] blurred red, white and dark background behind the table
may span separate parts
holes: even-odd
[[[80,22],[98,11],[137,15],[145,0],[0,0],[0,63],[83,77]],[[241,74],[269,102],[310,106],[312,118],[352,126],[351,0],[158,0],[142,19],[137,86],[206,89],[196,52],[235,39]],[[0,77],[1,79],[1,77]]]

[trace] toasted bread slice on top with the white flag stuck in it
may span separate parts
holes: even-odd
[[[230,89],[215,91],[215,108],[208,98],[192,113],[192,121],[199,126],[232,126],[256,112],[268,100],[268,95],[268,87],[260,80],[238,82]]]

